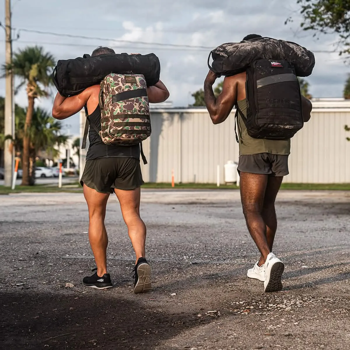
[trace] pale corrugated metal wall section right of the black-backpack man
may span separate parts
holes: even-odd
[[[350,112],[317,111],[292,139],[286,182],[350,182]]]

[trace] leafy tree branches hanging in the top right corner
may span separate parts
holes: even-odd
[[[340,54],[350,53],[350,1],[349,0],[297,0],[300,14],[303,17],[300,24],[303,30],[317,33],[339,35],[339,44],[344,49]],[[286,23],[291,21],[288,18]]]

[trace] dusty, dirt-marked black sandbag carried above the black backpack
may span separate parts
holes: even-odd
[[[214,62],[210,66],[210,55]],[[306,48],[285,40],[254,38],[239,43],[225,43],[212,50],[209,68],[219,75],[230,76],[244,72],[257,59],[285,59],[294,65],[299,77],[307,77],[315,65],[314,54]]]

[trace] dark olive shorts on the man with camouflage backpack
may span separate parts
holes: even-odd
[[[136,158],[99,158],[87,160],[80,184],[100,193],[114,189],[134,190],[144,184],[140,160]]]

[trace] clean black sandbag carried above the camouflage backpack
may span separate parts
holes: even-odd
[[[52,80],[58,92],[69,97],[99,84],[110,73],[142,74],[147,86],[152,86],[159,80],[159,58],[155,54],[104,54],[60,59],[52,72]]]

